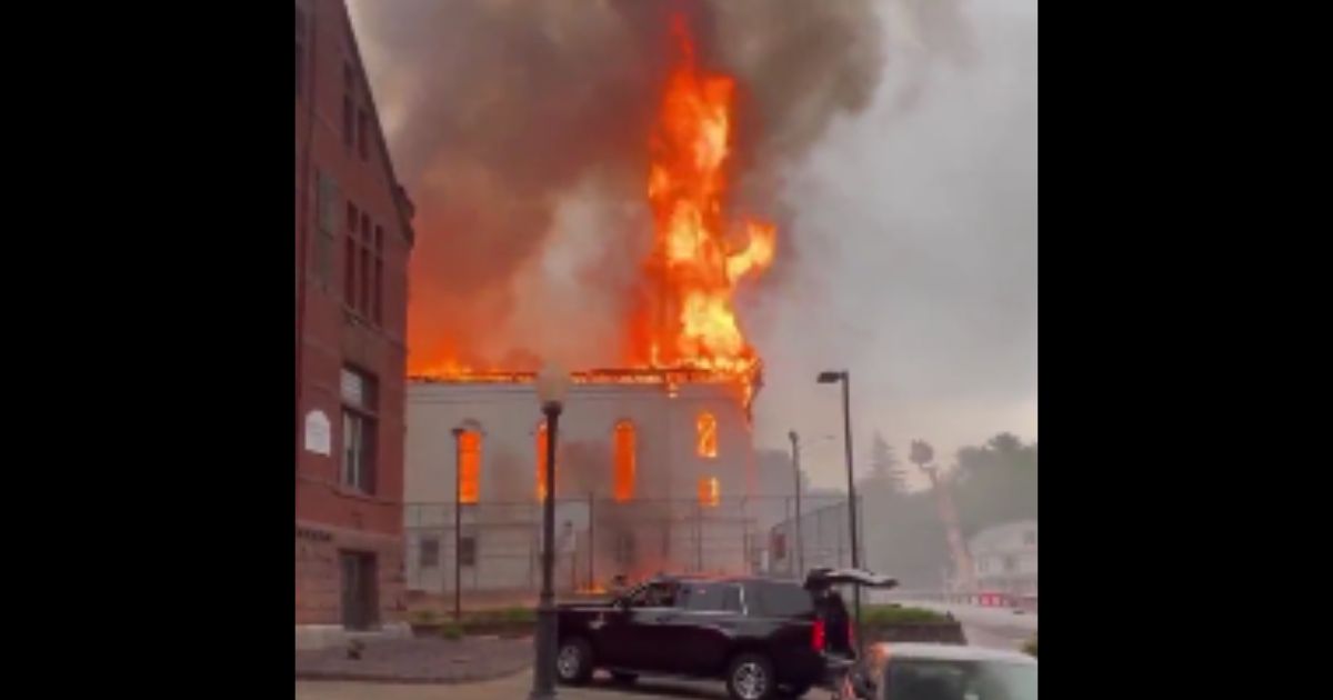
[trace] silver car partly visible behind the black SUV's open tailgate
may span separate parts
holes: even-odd
[[[1037,660],[948,644],[874,644],[837,700],[1037,700]]]

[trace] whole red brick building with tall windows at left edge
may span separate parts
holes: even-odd
[[[399,185],[343,0],[296,1],[296,624],[401,627]]]

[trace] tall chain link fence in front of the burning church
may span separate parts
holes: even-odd
[[[809,501],[809,499],[806,499]],[[816,499],[812,504],[818,507]],[[802,509],[805,509],[802,504]],[[520,604],[541,587],[541,504],[505,501],[409,503],[404,507],[407,584],[416,599],[469,607]],[[601,591],[616,576],[639,580],[659,572],[740,575],[790,573],[774,557],[772,528],[794,515],[793,499],[556,500],[557,593]],[[834,515],[812,525],[812,555],[833,543]],[[822,523],[822,520],[820,520]],[[781,544],[778,543],[778,547]],[[836,544],[829,544],[836,551]]]

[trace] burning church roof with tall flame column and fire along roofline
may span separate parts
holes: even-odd
[[[673,68],[663,85],[648,140],[644,191],[653,244],[643,261],[643,295],[625,319],[625,367],[575,372],[581,384],[729,384],[749,411],[760,385],[758,353],[736,316],[740,284],[773,261],[777,228],[729,217],[736,79],[702,68],[682,17],[670,23]],[[456,359],[411,372],[417,381],[533,381],[516,367],[479,371]]]

